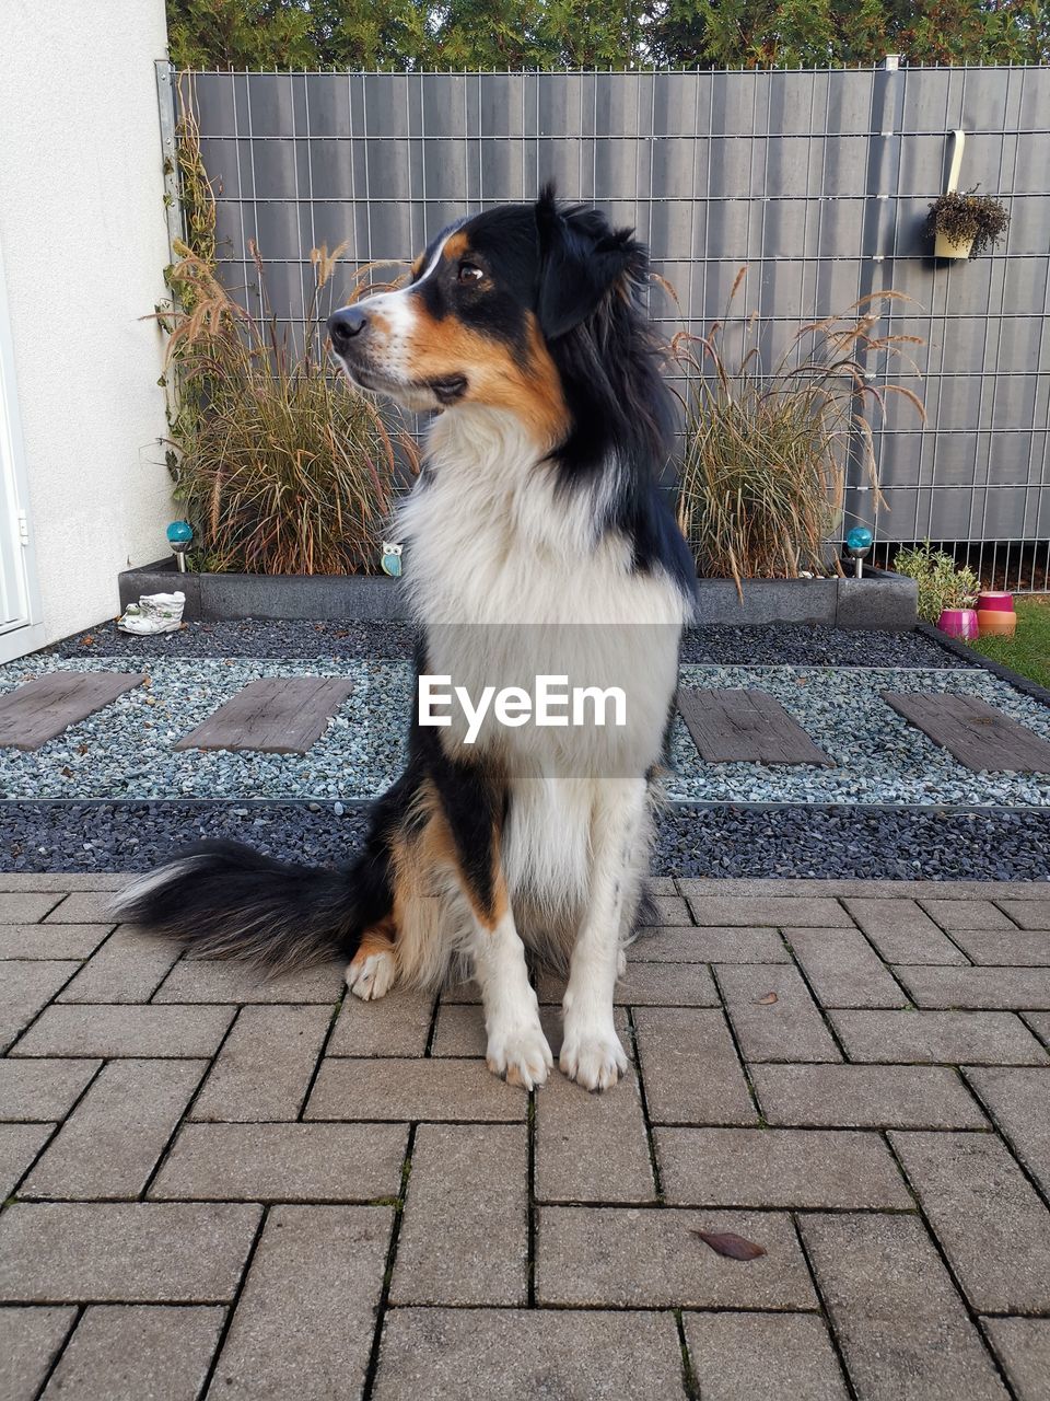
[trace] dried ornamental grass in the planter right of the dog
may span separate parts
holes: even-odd
[[[865,375],[868,357],[899,357],[918,343],[876,333],[879,303],[889,300],[909,298],[875,293],[843,317],[802,326],[771,371],[756,345],[748,349],[757,314],[743,324],[736,368],[724,352],[728,311],[706,336],[675,336],[686,380],[678,518],[701,576],[734,579],[739,593],[743,579],[827,573],[826,541],[841,520],[851,454],[878,497],[868,409],[883,412],[886,395],[900,394],[924,416],[911,389]]]

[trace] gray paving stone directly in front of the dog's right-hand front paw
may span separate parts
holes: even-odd
[[[630,1054],[630,1040],[622,1034],[622,1041]],[[655,1201],[634,1068],[608,1094],[588,1094],[553,1075],[536,1096],[535,1152],[539,1201]]]

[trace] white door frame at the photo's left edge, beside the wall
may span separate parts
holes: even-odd
[[[0,623],[0,663],[43,646],[43,614],[29,521],[29,481],[18,416],[14,340],[7,311],[4,256],[0,248],[0,551],[14,559],[20,591],[18,618]]]

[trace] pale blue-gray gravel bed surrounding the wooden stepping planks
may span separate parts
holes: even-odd
[[[126,663],[125,663],[126,665]],[[104,657],[28,657],[0,668],[0,692],[56,670],[112,670]],[[367,799],[400,772],[412,667],[377,658],[165,658],[125,692],[32,752],[0,750],[0,799]],[[174,744],[245,684],[263,677],[349,677],[354,689],[312,748],[298,754],[175,751]],[[1050,708],[990,672],[839,667],[682,668],[692,686],[762,686],[834,761],[703,764],[685,724],[672,736],[668,797],[701,803],[1050,806],[1050,775],[973,773],[890,710],[879,692],[981,696],[1050,740]]]

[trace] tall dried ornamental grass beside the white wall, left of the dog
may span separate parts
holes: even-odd
[[[413,467],[414,450],[388,410],[325,360],[322,291],[342,249],[311,252],[314,293],[294,333],[270,310],[253,245],[260,317],[230,294],[209,259],[185,245],[176,251],[168,280],[188,310],[158,319],[169,332],[171,461],[175,497],[199,542],[193,566],[260,574],[378,569],[395,443]]]

